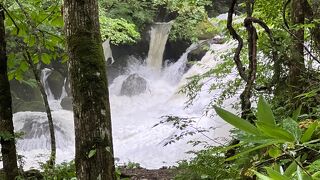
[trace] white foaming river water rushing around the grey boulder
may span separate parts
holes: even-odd
[[[193,118],[195,122],[191,124],[189,130],[199,127],[215,127],[215,130],[206,134],[212,139],[228,136],[230,129],[228,125],[216,116],[211,118],[212,114],[204,116],[210,99],[217,95],[219,90],[209,92],[209,86],[204,86],[199,98],[188,108],[185,107],[187,101],[185,95],[177,94],[177,92],[187,82],[188,77],[203,73],[221,62],[219,54],[225,53],[232,47],[232,44],[212,44],[210,50],[213,50],[214,53],[208,51],[201,62],[184,74],[187,54],[194,46],[191,46],[176,63],[164,67],[162,71],[132,61],[127,72],[118,76],[110,85],[114,152],[115,157],[119,160],[118,163],[137,162],[146,168],[171,166],[179,160],[191,157],[185,152],[200,148],[188,144],[189,140],[207,140],[212,145],[216,144],[215,141],[197,134],[164,146],[169,137],[181,133],[172,124],[160,124],[153,127],[162,120],[162,116],[166,115]],[[162,62],[162,55],[159,61]],[[120,96],[123,81],[133,73],[146,80],[147,90],[136,96]],[[211,78],[210,81],[215,81],[215,79]],[[75,152],[72,112],[55,106],[52,115],[57,132],[57,163],[72,160]],[[25,168],[38,167],[38,161],[48,160],[50,136],[46,114],[43,112],[16,113],[14,114],[14,125],[16,131],[26,132],[25,139],[18,141],[18,152],[25,156]]]

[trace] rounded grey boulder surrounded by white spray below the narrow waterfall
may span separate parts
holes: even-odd
[[[131,74],[123,81],[120,95],[135,96],[144,93],[147,89],[147,81],[138,74]]]

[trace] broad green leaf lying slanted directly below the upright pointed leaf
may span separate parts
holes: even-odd
[[[287,142],[295,141],[294,136],[282,128],[270,126],[261,122],[256,122],[256,125],[261,132],[269,137]]]

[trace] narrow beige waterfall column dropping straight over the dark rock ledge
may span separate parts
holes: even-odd
[[[147,66],[160,71],[162,67],[163,52],[166,46],[172,22],[154,23],[150,32],[150,45],[147,57]]]

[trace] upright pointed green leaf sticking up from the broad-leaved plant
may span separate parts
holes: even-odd
[[[276,126],[271,107],[262,96],[259,97],[258,101],[257,118],[259,122],[263,122],[271,126]]]

